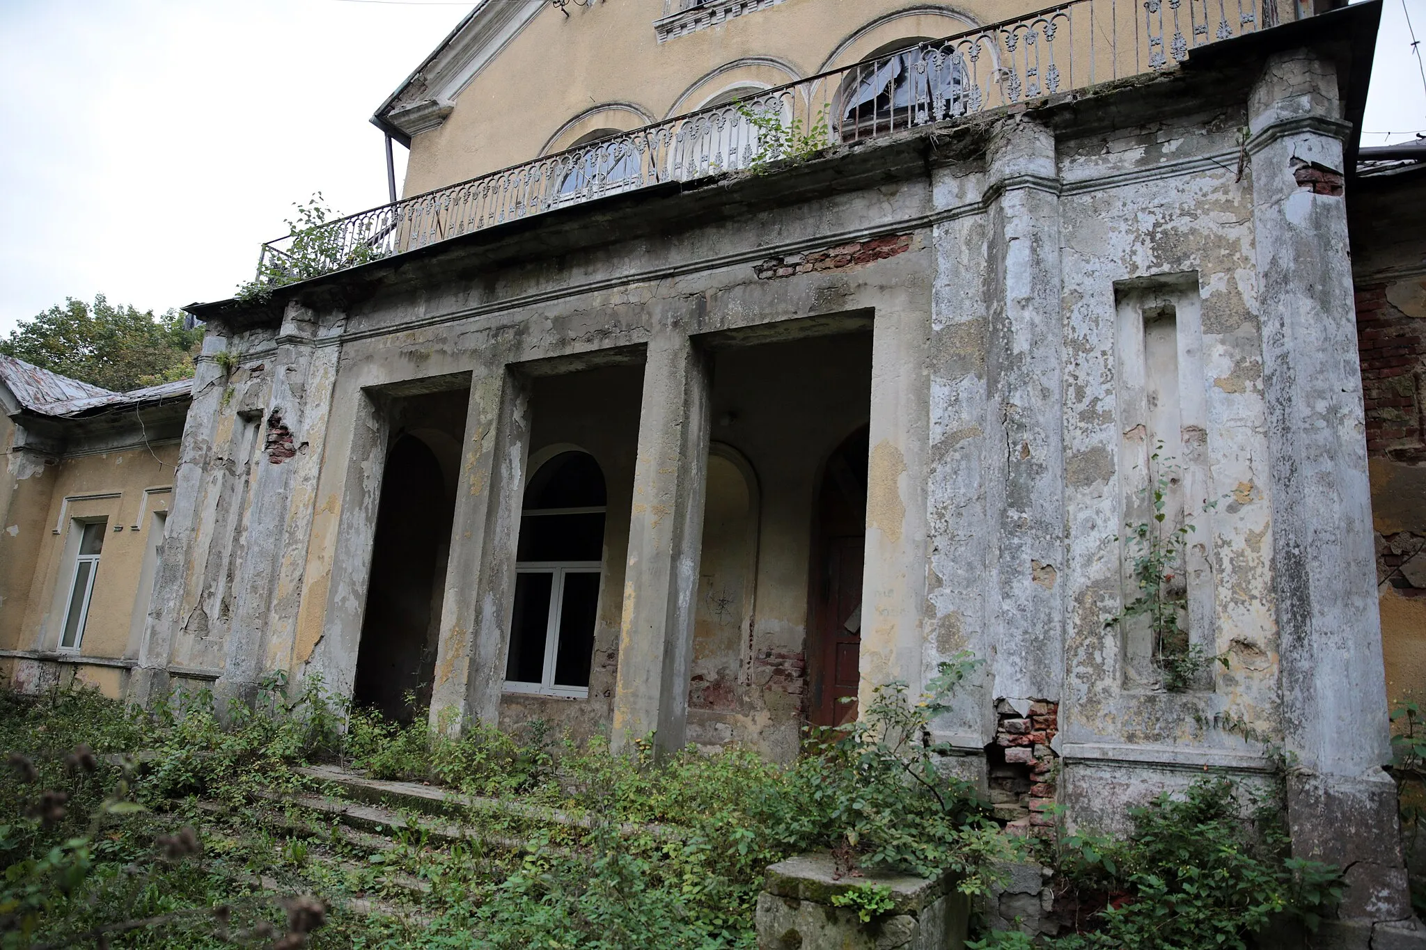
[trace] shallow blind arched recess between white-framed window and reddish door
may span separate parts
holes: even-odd
[[[761,496],[737,449],[709,444],[689,706],[732,712],[752,682]]]

